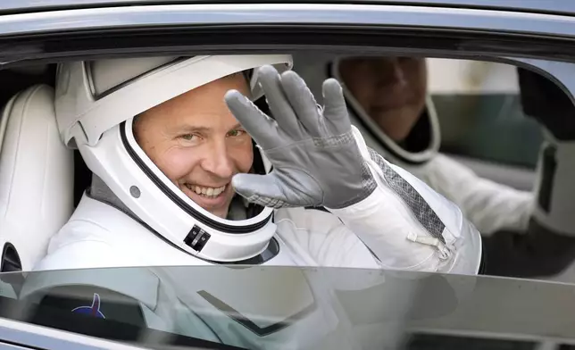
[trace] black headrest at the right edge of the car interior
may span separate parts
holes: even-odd
[[[521,105],[525,115],[544,125],[560,141],[575,140],[575,105],[553,81],[517,68]]]

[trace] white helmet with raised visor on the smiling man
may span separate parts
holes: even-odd
[[[63,63],[56,82],[58,128],[63,142],[79,149],[113,194],[172,246],[213,262],[246,260],[268,247],[276,229],[272,209],[260,208],[254,217],[238,221],[205,211],[137,145],[132,121],[157,104],[240,71],[250,73],[255,99],[262,96],[257,68],[265,64],[285,71],[292,58],[212,55]]]

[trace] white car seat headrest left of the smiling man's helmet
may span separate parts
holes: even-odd
[[[73,211],[73,153],[58,132],[52,87],[12,97],[0,120],[0,145],[0,248],[15,249],[29,271]]]

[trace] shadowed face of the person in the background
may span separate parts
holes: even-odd
[[[339,74],[387,136],[399,142],[409,135],[425,107],[425,59],[354,57],[339,64]]]

